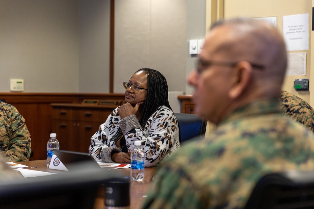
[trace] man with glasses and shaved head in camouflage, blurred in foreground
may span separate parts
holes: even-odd
[[[160,166],[143,208],[242,208],[263,175],[314,169],[313,133],[280,108],[286,56],[267,22],[212,27],[188,82],[195,111],[217,128]]]

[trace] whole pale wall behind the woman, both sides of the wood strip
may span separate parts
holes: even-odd
[[[186,91],[203,38],[205,0],[116,0],[114,92],[143,67]],[[0,0],[0,91],[109,92],[110,0]],[[191,90],[188,90],[191,91]]]

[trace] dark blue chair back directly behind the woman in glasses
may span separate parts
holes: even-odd
[[[175,113],[179,122],[181,141],[183,143],[193,137],[205,134],[206,120],[196,114]]]

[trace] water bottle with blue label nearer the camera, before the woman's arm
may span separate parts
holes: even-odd
[[[141,147],[141,141],[134,142],[134,149],[131,151],[130,179],[133,181],[144,180],[144,158],[145,154]]]

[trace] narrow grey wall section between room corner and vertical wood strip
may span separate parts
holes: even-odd
[[[109,92],[110,0],[79,1],[79,92]]]

